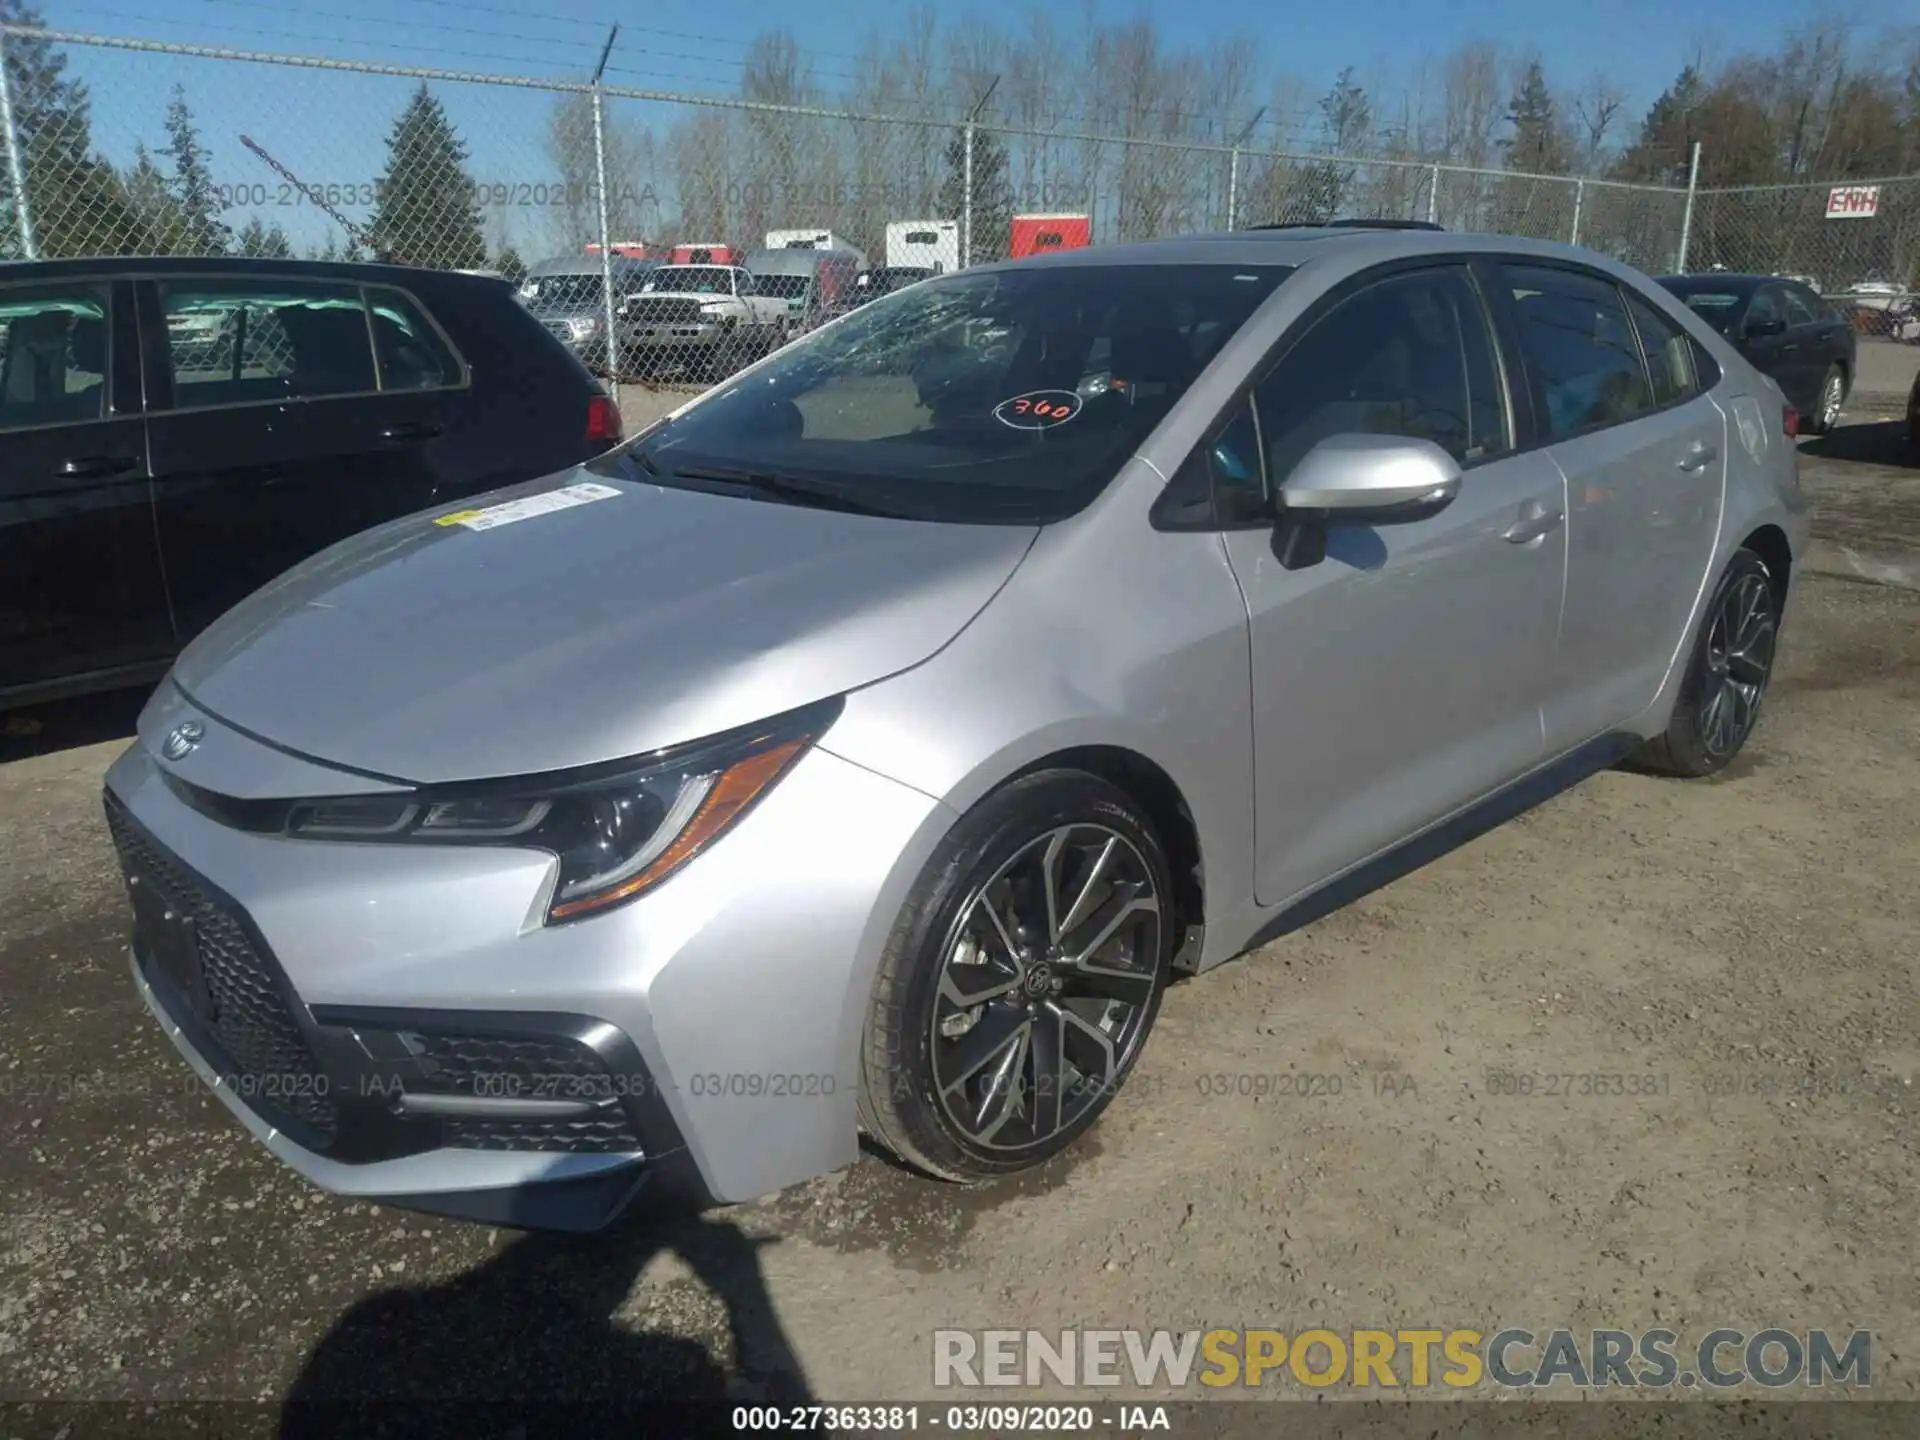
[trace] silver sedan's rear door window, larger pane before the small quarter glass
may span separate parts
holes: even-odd
[[[1513,288],[1521,353],[1540,392],[1548,440],[1653,409],[1640,342],[1609,280],[1534,265],[1501,269]]]

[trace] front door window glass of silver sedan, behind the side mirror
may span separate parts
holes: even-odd
[[[1511,445],[1486,311],[1465,267],[1354,292],[1254,392],[1271,484],[1338,434],[1430,440],[1461,465]]]

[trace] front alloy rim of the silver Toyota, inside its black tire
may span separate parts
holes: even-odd
[[[1043,1146],[1098,1108],[1144,1039],[1160,895],[1125,835],[1027,841],[960,908],[931,1018],[935,1092],[975,1146]]]

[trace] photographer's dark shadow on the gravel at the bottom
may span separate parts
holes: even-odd
[[[764,1244],[710,1217],[520,1236],[453,1281],[346,1311],[294,1380],[280,1436],[722,1434],[732,1404],[812,1404]],[[732,1365],[616,1321],[664,1252],[726,1304]]]

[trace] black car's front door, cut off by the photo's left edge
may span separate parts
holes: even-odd
[[[0,693],[171,649],[132,286],[0,284]]]

